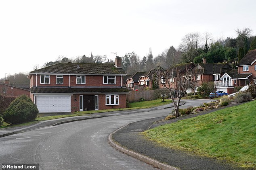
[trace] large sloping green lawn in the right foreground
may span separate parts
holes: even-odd
[[[256,168],[256,100],[143,134],[167,147]]]

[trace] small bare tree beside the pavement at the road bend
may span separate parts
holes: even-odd
[[[192,65],[187,64],[185,69],[177,65],[168,70],[164,70],[161,67],[155,70],[157,81],[161,82],[162,86],[170,92],[174,104],[174,115],[176,117],[179,117],[180,99],[186,93],[187,89],[197,82],[193,68]],[[176,96],[176,99],[174,96]]]

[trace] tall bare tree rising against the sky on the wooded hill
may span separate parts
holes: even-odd
[[[179,49],[182,52],[184,63],[193,62],[194,58],[197,57],[200,41],[199,33],[189,33],[183,37]]]

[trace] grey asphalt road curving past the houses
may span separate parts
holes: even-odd
[[[181,108],[209,100],[186,100]],[[0,164],[39,163],[42,170],[153,170],[122,154],[108,135],[131,122],[166,116],[171,109],[115,112],[109,117],[44,127],[0,138]]]

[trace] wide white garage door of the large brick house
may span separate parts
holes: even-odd
[[[39,113],[70,112],[70,96],[36,96]]]

